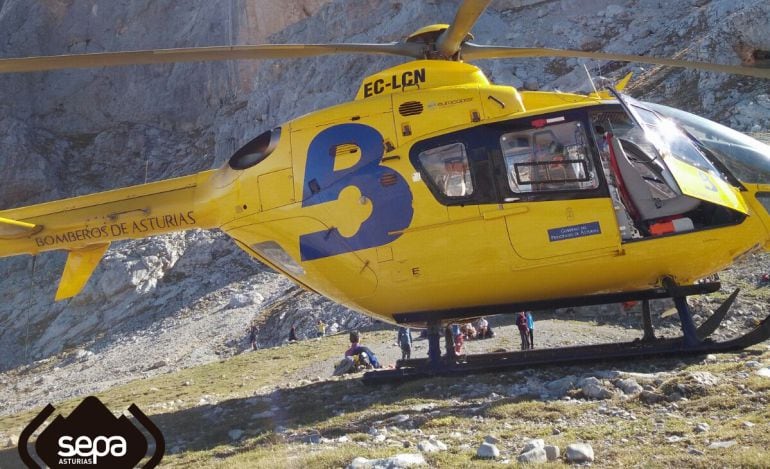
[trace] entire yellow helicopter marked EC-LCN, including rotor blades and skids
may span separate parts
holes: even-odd
[[[428,327],[429,357],[388,377],[512,363],[703,353],[770,337],[767,319],[707,337],[686,297],[770,248],[770,148],[613,89],[588,95],[494,85],[478,59],[582,57],[770,78],[770,69],[561,49],[483,46],[489,1],[389,44],[293,44],[6,58],[0,72],[336,53],[414,59],[363,80],[355,100],[257,136],[223,167],[0,211],[0,256],[66,250],[57,299],[76,295],[110,243],[218,228],[295,282],[391,323]],[[590,272],[590,275],[575,275]],[[703,280],[707,279],[707,280]],[[677,339],[656,339],[650,299],[673,298]],[[441,359],[443,326],[523,309],[643,301],[644,338],[465,363]],[[515,356],[515,359],[513,358]],[[371,378],[374,379],[374,378]]]

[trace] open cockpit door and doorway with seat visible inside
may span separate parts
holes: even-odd
[[[627,96],[591,112],[624,241],[739,223],[738,187],[673,122]]]

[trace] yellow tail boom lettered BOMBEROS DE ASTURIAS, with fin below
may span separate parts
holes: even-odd
[[[0,257],[68,251],[56,299],[72,297],[111,242],[210,228],[195,211],[196,189],[210,173],[0,211]]]

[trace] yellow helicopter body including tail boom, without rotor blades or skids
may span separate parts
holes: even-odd
[[[0,212],[0,255],[78,254],[66,297],[112,241],[219,228],[305,288],[396,322],[665,277],[689,284],[768,247],[755,195],[770,186],[647,161],[602,133],[621,131],[612,116],[622,113],[606,93],[519,92],[472,65],[410,62],[365,79],[352,102],[266,132],[218,170]],[[620,194],[626,151],[637,156],[622,161],[658,171],[642,177],[660,216]]]

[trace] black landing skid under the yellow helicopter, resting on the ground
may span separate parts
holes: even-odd
[[[722,353],[742,350],[770,339],[770,316],[765,318],[756,328],[740,337],[723,342],[708,338],[725,318],[727,310],[733,304],[737,294],[738,290],[733,292],[711,318],[697,329],[694,327],[692,315],[684,297],[674,298],[683,323],[683,335],[670,339],[656,339],[654,336],[650,338],[648,334],[651,331],[651,326],[649,326],[647,322],[649,318],[647,318],[645,320],[645,338],[632,342],[441,358],[440,350],[436,350],[439,346],[438,340],[430,340],[432,336],[438,337],[437,331],[440,327],[434,325],[432,334],[429,335],[429,358],[399,360],[396,369],[365,373],[363,381],[366,384],[386,384],[431,376],[456,376],[547,365]],[[648,314],[649,305],[646,305],[645,309],[646,311],[643,313]]]

